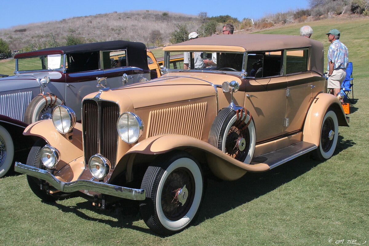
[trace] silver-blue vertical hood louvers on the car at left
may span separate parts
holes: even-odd
[[[31,91],[1,95],[0,114],[23,121],[25,109],[31,100]]]

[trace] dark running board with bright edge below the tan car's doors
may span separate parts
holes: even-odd
[[[283,163],[286,163],[317,148],[318,147],[313,143],[301,141],[264,155],[255,156],[252,159],[251,164],[265,163],[269,166],[269,169],[273,169]]]

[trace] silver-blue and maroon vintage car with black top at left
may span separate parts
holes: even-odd
[[[14,58],[15,75],[0,78],[0,177],[14,163],[14,153],[25,149],[18,145],[23,136],[15,134],[23,132],[23,122],[49,119],[61,104],[80,120],[87,94],[150,79],[146,46],[139,42],[61,46]]]

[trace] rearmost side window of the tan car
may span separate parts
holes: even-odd
[[[306,72],[308,49],[286,51],[286,74]]]

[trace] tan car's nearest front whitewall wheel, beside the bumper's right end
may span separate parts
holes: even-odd
[[[140,212],[146,225],[161,235],[170,235],[196,219],[204,194],[200,164],[187,152],[175,150],[150,164],[141,188],[146,199]]]

